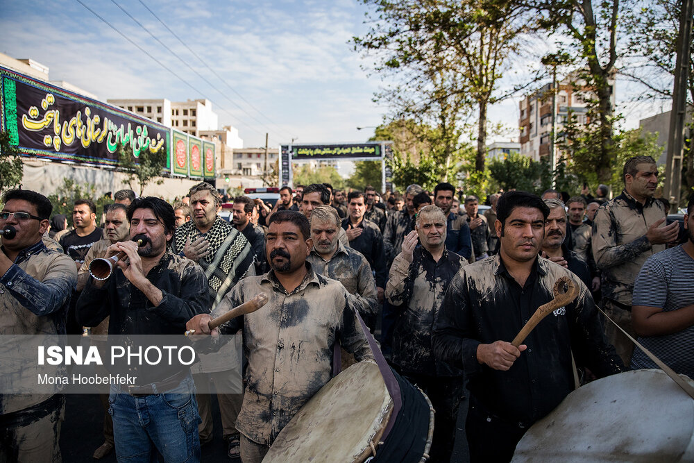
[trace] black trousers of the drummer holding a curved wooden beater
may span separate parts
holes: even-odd
[[[471,463],[510,462],[530,425],[511,423],[491,414],[474,396],[470,397],[465,433]]]

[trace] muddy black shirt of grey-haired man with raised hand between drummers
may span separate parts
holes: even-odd
[[[392,358],[404,374],[462,376],[462,370],[434,358],[432,329],[448,283],[466,263],[446,249],[436,262],[422,246],[414,249],[412,263],[403,253],[393,260],[385,294],[401,311],[393,328]]]

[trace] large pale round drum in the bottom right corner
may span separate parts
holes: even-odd
[[[528,430],[512,461],[694,462],[694,400],[661,370],[590,382]]]

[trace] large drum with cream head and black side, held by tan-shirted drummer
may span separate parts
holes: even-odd
[[[425,461],[433,409],[421,390],[406,381],[400,382],[400,392],[403,408],[384,443],[393,401],[377,364],[352,365],[294,415],[263,463]]]

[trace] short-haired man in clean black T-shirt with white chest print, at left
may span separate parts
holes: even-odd
[[[60,238],[60,246],[75,261],[75,268],[82,267],[85,255],[103,237],[103,230],[96,226],[96,205],[91,199],[76,199],[72,209],[74,230]]]

